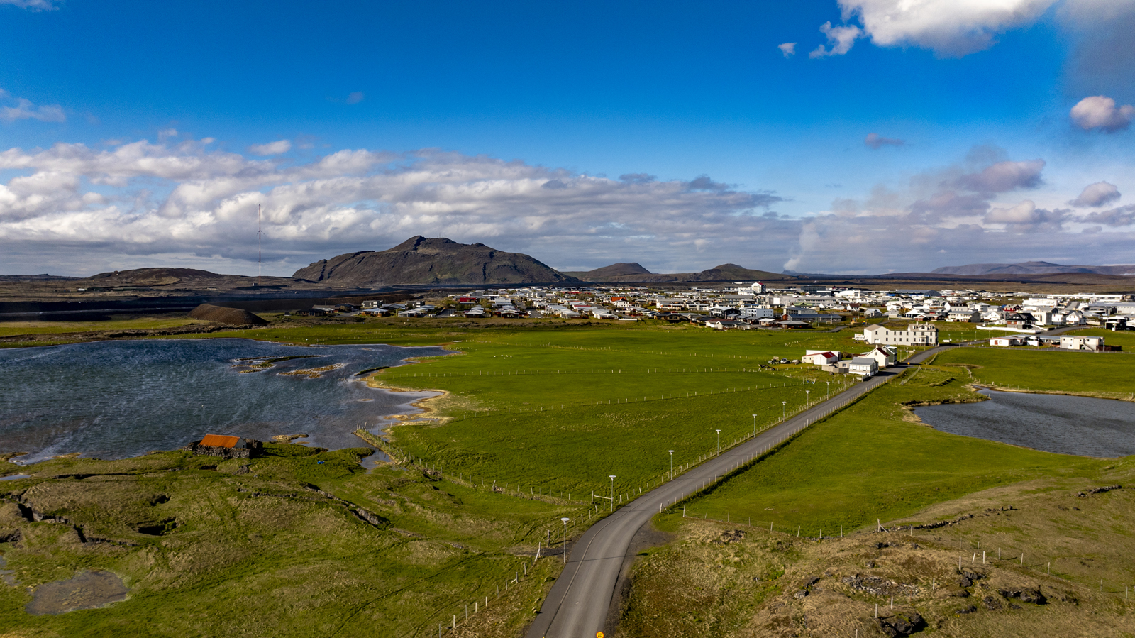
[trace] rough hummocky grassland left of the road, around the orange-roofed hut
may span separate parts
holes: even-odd
[[[359,453],[268,444],[251,461],[166,452],[34,465],[2,484],[0,532],[19,537],[0,553],[19,586],[0,586],[0,635],[428,636],[454,614],[468,626],[466,603],[482,635],[514,635],[560,570],[532,562],[536,545],[575,510],[415,470],[368,473]],[[17,495],[68,522],[26,520]],[[129,596],[24,613],[30,587],[79,570],[118,574]]]

